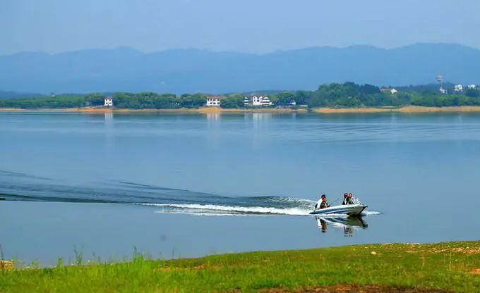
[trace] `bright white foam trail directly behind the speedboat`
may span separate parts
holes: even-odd
[[[189,208],[208,211],[227,211],[232,213],[260,213],[291,216],[308,216],[309,210],[302,208],[269,208],[265,206],[216,206],[214,204],[141,204],[164,208]]]

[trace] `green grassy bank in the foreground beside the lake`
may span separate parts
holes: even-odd
[[[0,270],[0,292],[480,292],[480,241]],[[339,285],[342,284],[342,285]]]

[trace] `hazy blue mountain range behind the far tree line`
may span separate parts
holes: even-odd
[[[325,82],[420,85],[436,75],[480,83],[480,50],[457,44],[314,47],[270,54],[130,48],[0,56],[0,89],[15,92],[248,92]]]

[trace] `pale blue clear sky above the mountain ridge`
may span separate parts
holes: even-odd
[[[479,13],[478,0],[0,0],[0,54],[416,42],[480,48]]]

